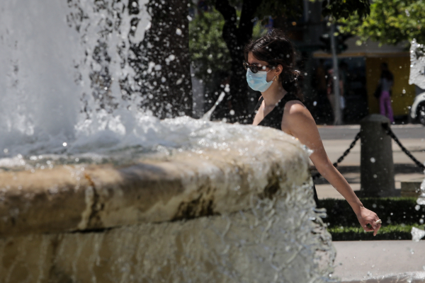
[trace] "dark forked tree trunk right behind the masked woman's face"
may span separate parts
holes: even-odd
[[[220,11],[225,18],[225,25],[222,30],[222,37],[229,49],[232,58],[232,69],[230,73],[230,91],[227,96],[233,115],[228,115],[230,122],[246,121],[248,112],[248,86],[246,83],[246,71],[242,67],[244,61],[244,46],[251,40],[254,23],[254,13],[262,0],[244,0],[242,13],[237,25],[237,13],[229,0],[216,0],[215,8]]]

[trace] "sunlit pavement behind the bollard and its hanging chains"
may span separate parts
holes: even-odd
[[[335,162],[348,149],[358,131],[360,131],[358,125],[319,127],[324,149],[327,151],[331,162]],[[393,125],[392,131],[416,159],[421,162],[425,161],[425,127],[422,125]],[[413,161],[401,151],[394,141],[392,142],[392,151],[395,163],[396,189],[401,188],[402,181],[424,179],[424,173],[421,173],[420,169],[414,166]],[[360,190],[360,141],[357,141],[356,146],[351,149],[351,153],[340,163],[339,170],[353,190]],[[319,199],[343,198],[326,180],[320,180],[316,188]]]

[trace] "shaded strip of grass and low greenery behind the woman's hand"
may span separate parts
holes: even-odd
[[[382,219],[375,237],[363,231],[346,200],[319,200],[319,207],[327,209],[323,220],[333,241],[411,240],[412,227],[424,229],[425,206],[417,206],[416,197],[363,198],[361,202]]]

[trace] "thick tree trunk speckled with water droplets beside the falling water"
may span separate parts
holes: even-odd
[[[140,62],[140,106],[161,119],[193,114],[188,1],[150,0],[151,27],[132,48]]]

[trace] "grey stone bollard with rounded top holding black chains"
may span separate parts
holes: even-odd
[[[372,114],[361,120],[361,191],[362,197],[397,195],[394,181],[391,137],[382,129],[390,120]]]

